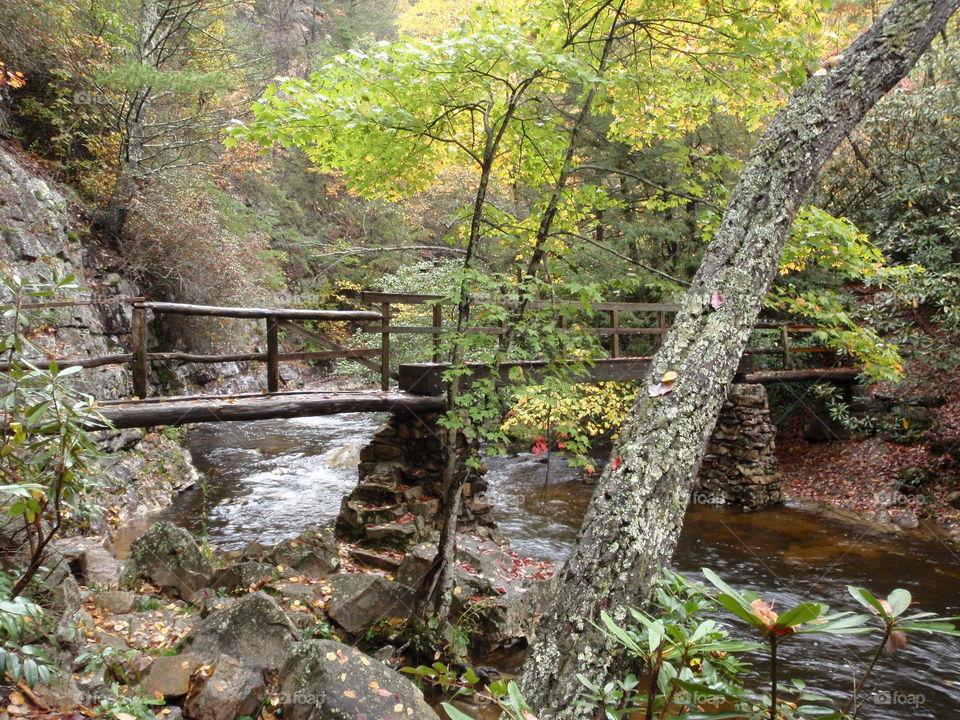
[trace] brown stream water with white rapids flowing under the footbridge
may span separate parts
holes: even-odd
[[[364,443],[378,424],[377,416],[357,414],[199,426],[188,445],[206,492],[182,494],[165,516],[202,526],[226,548],[295,535],[334,517],[356,483],[355,468],[335,467],[342,460],[331,451]],[[532,455],[488,465],[489,499],[515,549],[562,560],[591,488],[561,458],[552,459],[549,478],[547,464]],[[876,593],[905,587],[920,609],[960,615],[960,552],[935,539],[893,537],[790,507],[741,514],[692,506],[673,566],[692,576],[712,568],[780,608],[816,600],[855,609],[846,591],[853,584]],[[784,646],[784,675],[845,698],[872,643],[794,639]],[[891,702],[865,708],[866,719],[960,718],[960,639],[912,635],[906,650],[881,660],[872,690]]]

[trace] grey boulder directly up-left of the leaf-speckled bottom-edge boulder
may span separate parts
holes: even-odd
[[[298,639],[296,628],[276,601],[255,592],[208,615],[183,646],[205,661],[229,655],[250,668],[276,670]]]

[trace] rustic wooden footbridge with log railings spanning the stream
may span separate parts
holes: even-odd
[[[399,293],[363,292],[357,298],[358,305],[369,309],[308,310],[300,308],[250,308],[186,305],[179,303],[150,302],[145,298],[125,298],[107,301],[112,304],[130,305],[131,332],[130,352],[88,358],[43,358],[32,359],[35,365],[55,362],[58,367],[100,367],[127,365],[130,368],[133,397],[128,400],[103,401],[98,404],[102,415],[115,427],[151,427],[154,425],[185,425],[189,423],[223,422],[230,420],[259,420],[268,418],[306,417],[347,412],[376,412],[399,409],[438,410],[446,406],[445,384],[442,373],[447,365],[442,362],[441,338],[455,328],[444,325],[442,298],[439,295],[414,295]],[[55,308],[77,304],[99,304],[98,301],[49,302],[22,306],[28,308]],[[394,324],[398,306],[428,306],[430,323],[426,325]],[[553,306],[546,301],[534,301],[532,309],[549,310]],[[649,356],[623,356],[626,347],[635,345],[632,338],[648,338],[650,349],[659,345],[669,329],[669,316],[679,306],[652,303],[599,302],[589,305],[569,303],[576,307],[586,322],[595,322],[605,317],[609,322],[602,326],[576,323],[575,313],[565,310],[559,317],[559,326],[571,331],[602,335],[608,338],[608,355],[585,365],[574,376],[581,382],[610,382],[640,380],[645,377]],[[199,316],[209,318],[234,318],[259,321],[265,331],[263,350],[248,353],[201,355],[188,352],[151,351],[148,347],[149,314],[154,317],[164,314]],[[626,320],[626,322],[625,322]],[[313,323],[305,327],[304,323]],[[347,324],[353,333],[348,336],[379,336],[379,347],[347,347],[332,340],[317,329],[316,324]],[[794,358],[800,353],[820,353],[822,357],[835,356],[822,347],[797,345],[793,336],[810,333],[814,328],[790,323],[762,322],[758,329],[775,331],[779,342],[776,345],[749,348],[742,363],[741,380],[744,382],[786,382],[792,380],[829,380],[853,382],[857,370],[849,367],[823,367],[798,369]],[[297,336],[313,347],[324,350],[285,351],[281,344],[281,332]],[[471,327],[468,333],[500,335],[504,326]],[[430,362],[400,363],[396,371],[391,357],[391,339],[398,335],[427,334],[432,336]],[[342,336],[342,333],[338,334]],[[650,342],[652,339],[652,343]],[[753,371],[752,356],[773,355],[782,360],[779,370]],[[350,392],[318,392],[310,390],[281,391],[280,365],[283,362],[347,359],[361,363],[380,375],[380,390]],[[266,365],[264,393],[235,395],[198,395],[190,397],[149,397],[150,374],[154,363],[223,363],[262,362]],[[469,364],[475,377],[489,377],[491,369],[484,364]],[[501,382],[509,382],[516,369],[523,370],[525,378],[535,380],[549,371],[545,362],[508,362],[499,366]],[[0,364],[0,370],[9,369]],[[397,389],[392,389],[396,384]]]

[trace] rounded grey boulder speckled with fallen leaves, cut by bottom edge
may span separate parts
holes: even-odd
[[[438,720],[413,683],[334,640],[297,643],[281,677],[284,720]]]

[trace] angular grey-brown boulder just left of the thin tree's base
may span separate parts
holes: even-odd
[[[378,620],[410,617],[415,610],[410,588],[380,575],[341,574],[329,579],[330,619],[351,635],[362,635]]]

